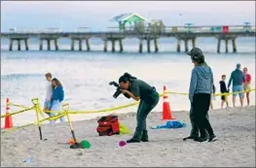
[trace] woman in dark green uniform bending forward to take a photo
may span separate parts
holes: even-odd
[[[119,84],[124,94],[139,101],[137,110],[137,125],[133,137],[127,143],[148,142],[146,118],[159,103],[159,93],[154,86],[132,77],[125,73],[119,79]]]

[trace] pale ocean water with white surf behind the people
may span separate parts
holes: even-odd
[[[219,92],[221,75],[227,75],[227,83],[231,72],[240,63],[247,67],[252,75],[252,87],[255,87],[255,39],[238,39],[238,53],[216,53],[217,42],[214,39],[199,39],[197,46],[204,51],[206,62],[214,73],[214,84]],[[224,50],[224,44],[222,44]],[[46,92],[44,75],[51,72],[63,84],[65,100],[71,110],[91,111],[118,107],[133,102],[123,96],[112,97],[115,87],[109,85],[117,81],[125,72],[155,85],[159,92],[163,86],[168,90],[188,92],[193,64],[185,52],[176,53],[176,42],[171,39],[160,41],[159,53],[138,53],[138,41],[126,40],[124,53],[103,52],[103,43],[91,42],[91,50],[69,51],[70,42],[60,41],[61,51],[39,51],[39,43],[31,40],[29,51],[8,51],[8,41],[1,43],[1,115],[5,114],[5,101],[32,106],[31,99],[39,98],[43,106]],[[110,45],[109,45],[110,47]],[[117,46],[118,47],[118,46]],[[182,46],[183,47],[183,46]],[[53,48],[53,47],[52,47]],[[84,47],[85,48],[85,47]],[[85,48],[86,49],[86,48]],[[182,48],[183,50],[184,48]],[[153,46],[152,46],[153,50]],[[232,50],[230,46],[230,50]],[[189,110],[187,96],[169,95],[172,111]],[[232,98],[230,97],[230,104]],[[220,108],[220,97],[213,102],[214,108]],[[255,93],[251,93],[251,104],[255,104]],[[163,100],[155,108],[162,111]],[[115,113],[135,112],[136,106]],[[12,112],[18,108],[12,107]],[[74,115],[72,120],[93,118],[106,114]],[[178,118],[175,117],[175,118]],[[36,119],[35,112],[30,111],[13,117],[15,125],[32,122]],[[135,119],[135,118],[134,118]],[[3,125],[3,119],[1,119]]]

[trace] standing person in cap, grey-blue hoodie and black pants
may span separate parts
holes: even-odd
[[[213,74],[208,66],[204,66],[204,56],[201,49],[194,48],[189,53],[195,67],[192,71],[189,99],[195,113],[196,124],[200,130],[200,137],[194,139],[197,142],[216,141],[217,138],[207,118],[210,106],[210,96],[213,92]]]

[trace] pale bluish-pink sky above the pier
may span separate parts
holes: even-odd
[[[165,25],[255,25],[254,1],[1,1],[1,32],[17,29],[61,28],[91,31],[117,26],[110,21],[121,14],[136,13],[163,19]]]

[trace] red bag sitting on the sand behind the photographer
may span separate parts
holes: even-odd
[[[120,134],[119,121],[117,116],[109,115],[97,120],[97,132],[99,136],[111,136]]]

